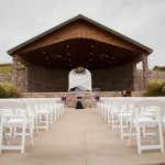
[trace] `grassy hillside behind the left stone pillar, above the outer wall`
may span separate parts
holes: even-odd
[[[18,69],[24,69],[24,65],[19,64]],[[12,64],[0,64],[0,74],[10,73],[12,70]]]

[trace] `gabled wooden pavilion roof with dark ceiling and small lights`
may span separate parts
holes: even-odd
[[[8,51],[34,65],[57,69],[109,68],[153,50],[84,15],[77,15]]]

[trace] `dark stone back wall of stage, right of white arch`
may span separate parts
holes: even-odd
[[[91,78],[92,87],[99,87],[101,91],[134,90],[131,65],[91,70]]]

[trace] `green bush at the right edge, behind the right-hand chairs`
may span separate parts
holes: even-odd
[[[144,94],[145,97],[165,96],[165,81],[152,81]]]

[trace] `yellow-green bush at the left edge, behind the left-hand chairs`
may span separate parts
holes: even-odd
[[[20,98],[21,94],[16,87],[12,84],[1,82],[0,84],[0,98]]]

